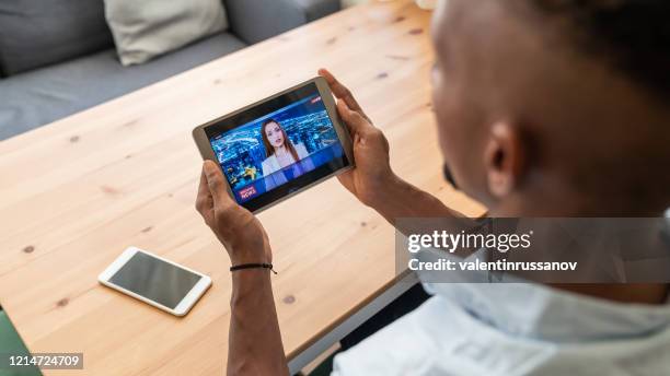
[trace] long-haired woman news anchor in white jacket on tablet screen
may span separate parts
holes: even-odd
[[[266,155],[262,163],[266,190],[280,186],[314,168],[311,161],[305,160],[310,153],[308,153],[304,144],[293,145],[279,121],[275,119],[265,120],[261,133]],[[302,160],[304,160],[302,163],[297,163]],[[291,168],[284,171],[284,174],[275,174],[289,166]],[[287,174],[290,174],[290,176],[287,177]]]

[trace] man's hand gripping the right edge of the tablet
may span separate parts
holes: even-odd
[[[389,160],[389,141],[363,113],[351,92],[325,69],[319,70],[337,98],[337,113],[354,142],[356,167],[337,177],[363,204],[374,208],[380,192],[396,181]]]

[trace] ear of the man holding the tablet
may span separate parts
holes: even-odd
[[[503,198],[518,188],[523,173],[523,154],[518,129],[505,121],[490,127],[484,148],[484,168],[492,196]]]

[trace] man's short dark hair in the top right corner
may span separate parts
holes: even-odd
[[[528,1],[543,14],[566,16],[580,52],[670,99],[669,0]]]

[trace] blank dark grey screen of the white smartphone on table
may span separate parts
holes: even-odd
[[[145,252],[136,252],[111,283],[174,309],[198,283],[200,275]]]

